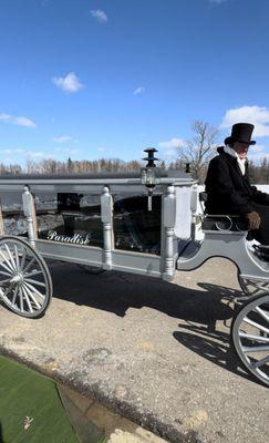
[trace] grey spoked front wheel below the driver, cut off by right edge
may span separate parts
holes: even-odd
[[[269,387],[269,292],[240,307],[232,319],[231,339],[246,369]]]

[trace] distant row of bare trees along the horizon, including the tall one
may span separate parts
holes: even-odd
[[[177,159],[174,162],[159,162],[161,168],[185,171],[189,165],[192,175],[199,184],[205,182],[209,161],[217,154],[218,130],[208,122],[195,121],[192,125],[192,138],[179,142],[177,146]],[[138,172],[144,163],[136,159],[124,162],[120,158],[100,158],[94,161],[64,162],[45,158],[40,162],[28,159],[24,167],[18,164],[4,165],[0,163],[0,175],[7,174],[85,174],[85,173],[128,173]],[[249,175],[252,183],[269,184],[269,159],[260,159],[259,163],[249,161]]]

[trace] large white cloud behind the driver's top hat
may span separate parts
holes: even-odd
[[[232,126],[235,123],[252,123],[254,137],[269,136],[269,109],[261,106],[241,106],[226,111],[220,128]]]

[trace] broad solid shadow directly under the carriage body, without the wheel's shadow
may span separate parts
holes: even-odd
[[[148,307],[169,317],[199,321],[215,329],[217,320],[231,318],[227,303],[240,291],[200,284],[201,290],[189,289],[157,278],[107,271],[89,275],[75,265],[51,268],[54,297],[113,312],[124,317],[128,308]]]

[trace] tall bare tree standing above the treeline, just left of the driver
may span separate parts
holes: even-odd
[[[194,178],[200,183],[205,177],[208,162],[216,154],[218,130],[207,122],[196,120],[192,131],[193,138],[178,146],[178,157],[190,164]]]

